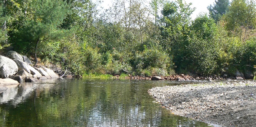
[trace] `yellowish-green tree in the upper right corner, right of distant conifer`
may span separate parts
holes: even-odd
[[[233,0],[229,12],[223,19],[230,35],[237,36],[245,42],[256,28],[255,0]]]

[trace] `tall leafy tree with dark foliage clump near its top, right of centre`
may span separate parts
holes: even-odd
[[[177,71],[186,67],[188,52],[188,40],[190,37],[190,15],[195,8],[190,8],[192,3],[185,3],[183,0],[165,3],[162,14],[165,21],[165,33],[163,47],[170,57],[173,56],[174,65]]]

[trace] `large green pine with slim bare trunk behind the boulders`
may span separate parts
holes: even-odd
[[[38,43],[62,36],[63,31],[58,27],[67,15],[68,5],[63,0],[36,0],[28,5],[23,23],[14,33],[13,40],[18,40],[14,42],[17,48],[31,49],[35,46],[34,56],[37,64]]]

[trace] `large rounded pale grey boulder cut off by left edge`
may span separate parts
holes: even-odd
[[[0,56],[0,78],[9,78],[17,72],[18,66],[12,59]]]

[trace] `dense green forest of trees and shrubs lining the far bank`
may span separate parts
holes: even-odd
[[[215,0],[199,14],[184,0],[1,0],[0,51],[78,75],[220,75],[256,65],[255,0]]]

